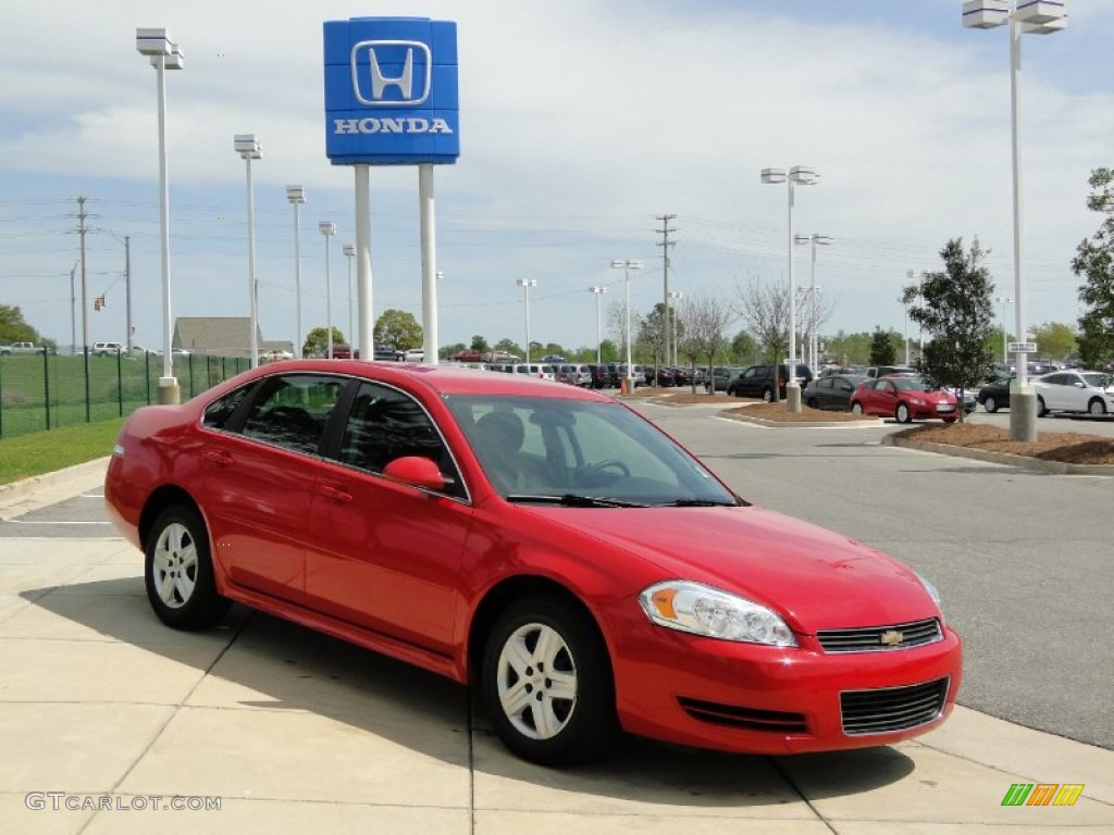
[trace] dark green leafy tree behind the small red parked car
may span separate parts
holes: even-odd
[[[905,288],[909,318],[931,337],[919,367],[934,385],[962,392],[977,389],[990,374],[994,360],[986,345],[994,318],[994,282],[984,265],[986,256],[978,238],[970,250],[964,249],[962,238],[952,238],[940,250],[944,271]],[[962,407],[958,411],[962,421]]]

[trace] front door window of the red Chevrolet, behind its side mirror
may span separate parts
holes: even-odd
[[[397,458],[432,460],[449,482],[446,491],[462,494],[448,450],[426,411],[409,395],[375,383],[363,383],[349,412],[340,460],[379,473]]]

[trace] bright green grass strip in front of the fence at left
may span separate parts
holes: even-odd
[[[0,484],[61,470],[111,454],[123,418],[0,441]]]

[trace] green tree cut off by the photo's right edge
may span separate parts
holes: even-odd
[[[1098,230],[1076,247],[1072,272],[1085,278],[1079,301],[1079,356],[1091,367],[1114,362],[1114,169],[1096,168],[1087,180],[1087,208],[1105,217]]]

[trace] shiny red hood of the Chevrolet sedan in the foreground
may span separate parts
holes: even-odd
[[[939,617],[917,574],[892,557],[761,508],[529,511],[655,564],[662,579],[761,602],[807,635]]]

